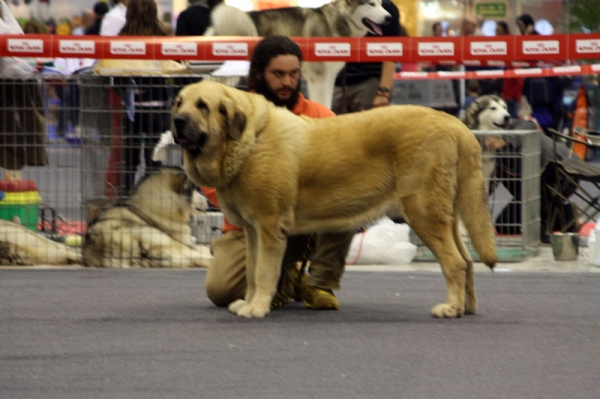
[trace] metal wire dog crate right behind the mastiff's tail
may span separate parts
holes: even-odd
[[[482,154],[484,162],[495,162],[494,172],[485,176],[490,187],[488,199],[496,229],[498,260],[516,262],[539,253],[541,145],[536,130],[474,131],[480,143],[486,138],[501,137],[509,143],[503,150]],[[483,147],[483,146],[482,146]],[[516,172],[516,173],[515,173]],[[479,260],[466,232],[463,239],[474,260]],[[417,245],[417,261],[434,261],[431,251],[411,231]]]

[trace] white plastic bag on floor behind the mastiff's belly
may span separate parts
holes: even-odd
[[[354,236],[346,257],[349,265],[401,265],[410,263],[417,247],[410,243],[406,224],[388,218],[379,220]]]

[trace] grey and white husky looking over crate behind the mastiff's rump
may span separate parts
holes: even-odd
[[[511,117],[502,97],[490,94],[477,97],[467,107],[463,122],[471,130],[506,130],[510,126]],[[496,168],[494,152],[501,145],[501,140],[488,136],[483,142],[483,176],[486,182]]]

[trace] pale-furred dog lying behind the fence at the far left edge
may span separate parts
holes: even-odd
[[[81,253],[17,222],[0,219],[0,266],[81,264]]]

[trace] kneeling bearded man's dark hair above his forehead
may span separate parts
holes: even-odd
[[[302,62],[300,46],[287,36],[268,36],[256,45],[250,61],[248,89],[256,90],[267,65],[280,55],[295,55]]]

